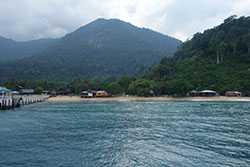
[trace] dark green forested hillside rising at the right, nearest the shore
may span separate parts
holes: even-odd
[[[154,81],[159,94],[186,95],[191,90],[212,89],[221,94],[238,90],[250,95],[250,17],[232,16],[195,34],[144,79]]]

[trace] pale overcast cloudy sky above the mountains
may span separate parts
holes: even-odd
[[[118,18],[183,41],[231,15],[250,15],[250,0],[0,0],[0,35],[60,37],[97,18]]]

